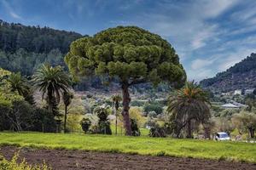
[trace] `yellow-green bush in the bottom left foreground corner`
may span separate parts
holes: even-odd
[[[42,165],[28,165],[25,159],[23,161],[18,161],[19,155],[16,153],[13,158],[8,161],[4,157],[0,156],[0,169],[2,170],[50,170],[51,167],[48,167],[45,162]]]

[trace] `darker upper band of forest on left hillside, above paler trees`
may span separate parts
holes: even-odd
[[[82,37],[73,31],[58,31],[44,26],[22,26],[0,20],[0,48],[7,52],[24,48],[27,52],[48,54],[52,49],[59,49],[66,54],[69,45]]]

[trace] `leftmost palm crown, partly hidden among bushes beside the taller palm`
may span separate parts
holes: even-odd
[[[28,84],[24,77],[19,73],[12,73],[9,75],[7,81],[10,84],[12,92],[17,91],[29,104],[34,105],[33,92],[31,86]]]

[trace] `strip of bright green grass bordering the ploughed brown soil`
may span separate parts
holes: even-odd
[[[256,162],[256,144],[74,133],[0,133],[0,145]]]

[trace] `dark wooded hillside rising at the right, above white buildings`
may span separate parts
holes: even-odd
[[[220,72],[216,77],[202,80],[200,83],[203,88],[215,92],[256,88],[256,54],[247,56],[227,71]]]

